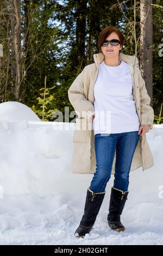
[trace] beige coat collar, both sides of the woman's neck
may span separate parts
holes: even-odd
[[[93,59],[94,59],[95,64],[96,64],[96,66],[98,68],[98,65],[104,60],[103,52],[93,54]],[[119,59],[123,60],[124,62],[126,62],[126,63],[128,63],[130,65],[133,65],[133,66],[135,65],[135,60],[138,60],[135,57],[135,55],[131,56],[131,55],[124,54],[122,52],[120,52]]]

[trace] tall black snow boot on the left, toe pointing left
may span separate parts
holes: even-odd
[[[76,237],[84,238],[85,234],[90,233],[93,224],[96,221],[99,209],[101,208],[103,199],[105,196],[104,192],[95,193],[90,188],[87,189],[84,215],[80,221],[79,227],[75,231]]]

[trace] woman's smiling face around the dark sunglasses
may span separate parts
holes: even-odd
[[[105,38],[106,40],[112,40],[112,39],[118,39],[120,40],[119,36],[117,35],[117,33],[112,32],[107,38]],[[118,58],[119,56],[119,51],[122,49],[122,46],[119,44],[117,46],[112,46],[111,44],[109,44],[108,46],[101,46],[101,50],[104,53],[105,57],[110,57],[110,58]],[[110,52],[108,52],[107,50],[112,50]]]

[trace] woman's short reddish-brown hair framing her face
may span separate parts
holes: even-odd
[[[119,38],[120,38],[120,42],[121,42],[121,46],[123,47],[124,44],[124,36],[122,34],[122,32],[120,31],[120,29],[114,27],[114,26],[108,26],[106,28],[104,28],[102,30],[102,32],[99,34],[99,38],[98,38],[98,48],[99,48],[99,52],[102,52],[101,50],[101,46],[103,44],[103,41],[112,33],[115,32]],[[120,53],[119,53],[120,54]]]

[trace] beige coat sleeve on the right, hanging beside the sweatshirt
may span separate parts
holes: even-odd
[[[149,124],[150,129],[153,129],[154,110],[150,106],[151,97],[149,97],[145,85],[145,80],[141,76],[139,70],[139,82],[140,82],[140,101],[141,101],[141,125]]]

